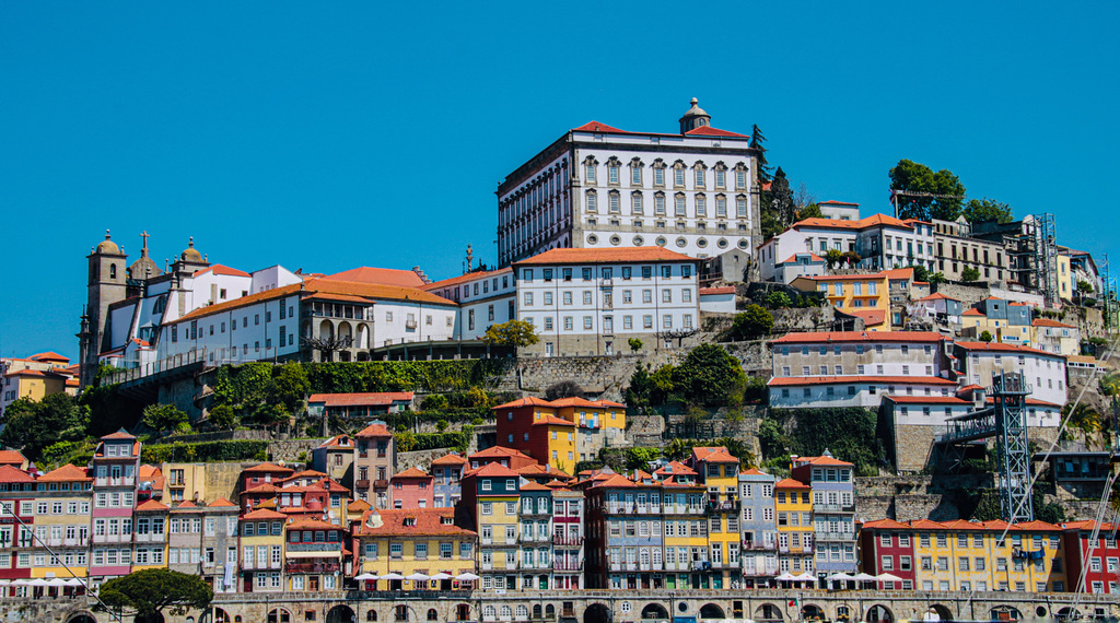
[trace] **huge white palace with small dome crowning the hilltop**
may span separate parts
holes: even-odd
[[[498,185],[498,264],[552,248],[666,247],[691,257],[758,242],[757,151],[692,100],[676,134],[598,122]]]

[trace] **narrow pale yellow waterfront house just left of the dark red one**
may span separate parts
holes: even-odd
[[[271,502],[265,504],[274,506]],[[241,516],[241,583],[239,592],[283,591],[283,525],[288,516],[259,508]]]

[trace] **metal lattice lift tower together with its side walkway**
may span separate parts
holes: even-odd
[[[1000,510],[1010,523],[1032,521],[1030,450],[1027,441],[1026,397],[1032,387],[1019,372],[1002,372],[992,378],[986,396],[992,406],[978,407],[968,415],[950,418],[945,432],[934,438],[941,456],[960,462],[967,446],[995,438],[999,451]]]

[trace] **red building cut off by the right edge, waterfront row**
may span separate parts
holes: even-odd
[[[1065,532],[1066,578],[1070,591],[1120,595],[1120,548],[1117,547],[1116,523],[1102,523],[1096,538],[1094,521],[1068,521]],[[1085,583],[1076,586],[1084,574]]]

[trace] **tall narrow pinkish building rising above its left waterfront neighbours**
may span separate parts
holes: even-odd
[[[101,585],[132,570],[132,509],[140,441],[123,430],[101,437],[93,454],[93,547],[90,577]]]

